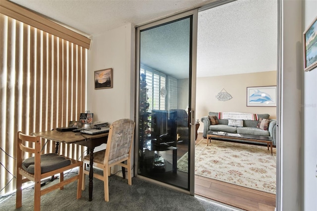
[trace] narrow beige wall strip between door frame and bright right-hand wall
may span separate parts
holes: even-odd
[[[282,1],[281,210],[302,210],[301,1]]]

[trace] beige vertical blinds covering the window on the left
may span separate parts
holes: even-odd
[[[0,195],[15,189],[17,131],[68,126],[85,110],[86,54],[81,46],[0,14]],[[54,152],[55,142],[42,145],[42,153]],[[59,145],[59,154],[74,159],[84,150]]]

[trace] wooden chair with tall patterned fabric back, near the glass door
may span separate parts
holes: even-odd
[[[94,167],[103,170],[103,175],[95,173],[94,177],[104,181],[105,201],[109,201],[108,176],[111,166],[120,165],[127,168],[128,184],[132,185],[131,153],[135,122],[131,119],[120,119],[113,122],[109,129],[106,150],[94,153]],[[90,163],[90,155],[84,157],[83,190],[85,189],[85,174],[89,175],[86,165]],[[126,163],[124,163],[126,161]]]

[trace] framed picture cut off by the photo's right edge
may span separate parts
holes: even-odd
[[[304,71],[317,67],[317,17],[303,33]]]

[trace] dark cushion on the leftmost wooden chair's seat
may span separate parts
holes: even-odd
[[[22,162],[22,168],[25,171],[34,174],[34,160],[34,157],[26,158]],[[55,153],[41,155],[41,173],[53,171],[69,164],[70,159],[66,159],[65,157],[59,156]]]

